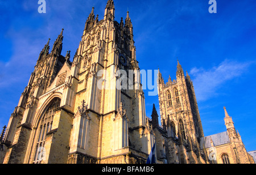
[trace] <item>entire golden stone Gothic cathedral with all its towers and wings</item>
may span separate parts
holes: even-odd
[[[0,162],[145,164],[154,145],[158,164],[253,162],[226,109],[224,142],[218,144],[221,134],[204,136],[193,83],[179,61],[176,80],[164,83],[158,71],[160,118],[154,104],[146,116],[133,24],[128,11],[120,22],[114,15],[113,0],[102,20],[92,8],[72,62],[70,51],[61,55],[64,29],[51,52],[50,39],[44,45],[1,134]]]

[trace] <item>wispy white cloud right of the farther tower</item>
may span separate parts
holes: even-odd
[[[218,95],[218,89],[223,87],[228,80],[242,76],[251,63],[225,59],[220,65],[208,70],[193,67],[190,74],[193,76],[197,100],[204,101]]]

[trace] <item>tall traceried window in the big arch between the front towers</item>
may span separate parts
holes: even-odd
[[[40,163],[44,156],[44,143],[46,142],[46,134],[52,129],[53,117],[55,110],[60,106],[60,99],[55,98],[52,100],[52,103],[48,106],[46,112],[44,112],[43,117],[38,125],[36,135],[36,149],[34,156],[34,163]]]

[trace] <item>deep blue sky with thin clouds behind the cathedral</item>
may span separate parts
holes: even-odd
[[[0,2],[0,127],[27,86],[43,46],[50,49],[64,28],[63,52],[76,52],[92,7],[99,19],[107,0],[46,0],[46,14],[38,1]],[[247,151],[256,150],[255,70],[256,2],[217,0],[217,13],[208,12],[208,0],[118,1],[115,20],[126,17],[134,28],[137,60],[144,70],[160,69],[167,82],[176,79],[177,58],[193,80],[205,136],[225,131],[224,109],[232,116]],[[72,59],[71,59],[72,60]],[[147,96],[159,113],[158,96]]]

